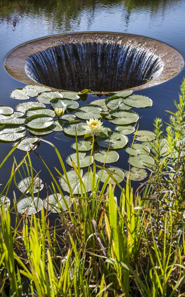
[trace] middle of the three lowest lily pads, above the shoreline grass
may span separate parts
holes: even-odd
[[[24,214],[24,212],[26,211],[28,215],[31,215],[39,212],[42,206],[43,206],[43,201],[41,200],[41,198],[28,197],[28,198],[21,199],[17,203],[17,211],[20,214]]]

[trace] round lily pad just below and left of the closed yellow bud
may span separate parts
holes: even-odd
[[[31,129],[45,129],[53,124],[54,120],[51,116],[44,114],[29,116],[25,119],[25,125]]]

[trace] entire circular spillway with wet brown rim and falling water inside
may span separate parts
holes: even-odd
[[[184,60],[175,49],[145,37],[87,32],[27,42],[5,58],[5,69],[28,83],[67,91],[120,91],[156,85]]]

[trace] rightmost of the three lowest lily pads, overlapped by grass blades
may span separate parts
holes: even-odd
[[[64,196],[65,201],[67,203],[67,205],[70,205],[70,198],[69,196]],[[58,199],[58,200],[57,200]],[[51,212],[59,212],[59,209],[62,207],[63,211],[65,211],[67,209],[64,200],[62,199],[62,196],[57,193],[57,199],[56,199],[56,194],[55,195],[49,195],[48,199],[46,198],[44,200],[44,208],[47,209],[48,211]],[[59,201],[59,203],[58,203]]]

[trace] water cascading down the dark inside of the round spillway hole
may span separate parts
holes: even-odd
[[[152,80],[163,70],[159,56],[132,44],[87,42],[47,48],[28,58],[27,75],[56,89],[124,90]]]

